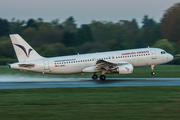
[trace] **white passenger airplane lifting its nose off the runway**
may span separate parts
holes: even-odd
[[[150,66],[155,75],[154,66],[173,60],[173,56],[160,48],[140,48],[77,54],[46,58],[39,55],[20,35],[10,35],[17,63],[9,64],[9,68],[23,71],[41,72],[43,74],[94,73],[92,79],[105,80],[104,74],[132,74],[134,67]]]

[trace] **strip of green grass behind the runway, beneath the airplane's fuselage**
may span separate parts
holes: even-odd
[[[155,66],[156,75],[152,76],[150,67],[139,67],[134,68],[134,73],[129,75],[119,75],[119,74],[106,74],[108,78],[154,78],[154,77],[180,77],[180,65],[157,65]],[[9,69],[8,66],[0,66],[0,75],[24,75],[24,76],[39,76],[39,77],[55,77],[55,78],[90,78],[93,73],[82,74],[70,74],[70,75],[50,75],[34,72],[25,72],[20,70]],[[98,73],[100,75],[101,73]]]

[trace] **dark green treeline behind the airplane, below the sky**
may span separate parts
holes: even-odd
[[[92,53],[141,47],[159,47],[172,54],[180,53],[180,3],[166,10],[156,22],[145,15],[142,26],[136,19],[117,23],[95,21],[77,26],[70,16],[44,22],[42,18],[11,21],[0,18],[0,64],[15,59],[9,34],[20,34],[38,53],[45,57]],[[177,62],[178,63],[178,62]],[[4,63],[3,63],[4,64]]]

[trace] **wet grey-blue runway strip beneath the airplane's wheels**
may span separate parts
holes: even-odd
[[[1,77],[0,89],[118,87],[118,86],[180,86],[180,78],[6,78]]]

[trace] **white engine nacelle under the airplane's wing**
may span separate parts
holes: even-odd
[[[121,65],[117,67],[119,74],[131,74],[133,73],[134,67],[132,64]]]

